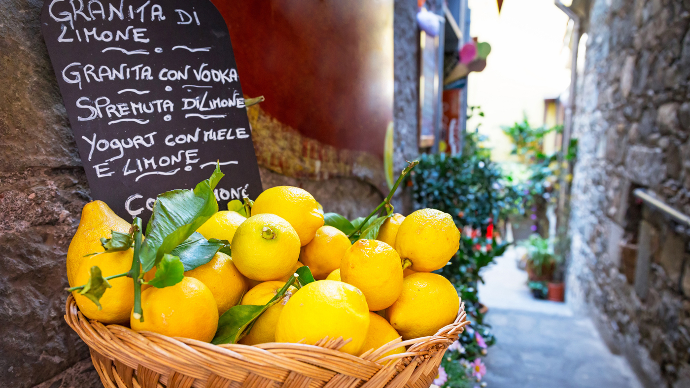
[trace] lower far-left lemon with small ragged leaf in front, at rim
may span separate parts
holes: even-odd
[[[103,278],[125,273],[132,268],[132,253],[129,255],[108,253],[84,258],[79,269],[75,271],[72,279],[74,284],[70,283],[70,287],[86,284],[92,266],[98,266],[101,269]],[[132,278],[126,276],[110,279],[108,282],[112,287],[106,289],[99,301],[101,310],[86,296],[79,295],[79,291],[73,291],[72,295],[75,295],[77,307],[86,318],[97,320],[102,324],[125,324],[134,306],[134,282]]]

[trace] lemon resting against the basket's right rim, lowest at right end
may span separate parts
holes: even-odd
[[[435,273],[413,273],[403,280],[402,293],[386,317],[403,340],[433,336],[453,323],[460,300],[453,284]]]

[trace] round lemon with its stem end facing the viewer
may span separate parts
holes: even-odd
[[[299,237],[274,214],[247,218],[233,237],[233,262],[247,278],[276,280],[288,275],[299,258]]]

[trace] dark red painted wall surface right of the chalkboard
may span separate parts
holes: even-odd
[[[393,117],[393,1],[213,0],[245,95],[302,135],[383,155]]]

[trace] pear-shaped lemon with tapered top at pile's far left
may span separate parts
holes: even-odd
[[[103,201],[93,201],[84,205],[81,209],[81,221],[79,221],[77,233],[75,233],[75,237],[72,237],[70,247],[67,250],[67,281],[70,283],[70,287],[83,285],[83,283],[75,280],[77,269],[81,266],[81,262],[86,260],[84,255],[104,251],[101,237],[110,238],[110,231],[128,233],[130,227],[128,222],[115,214]],[[99,257],[109,256],[116,261],[126,261],[126,258],[129,258],[131,267],[133,254],[134,250],[130,249],[128,251],[103,253]],[[86,273],[88,279],[88,271]],[[110,273],[110,275],[116,274]]]

